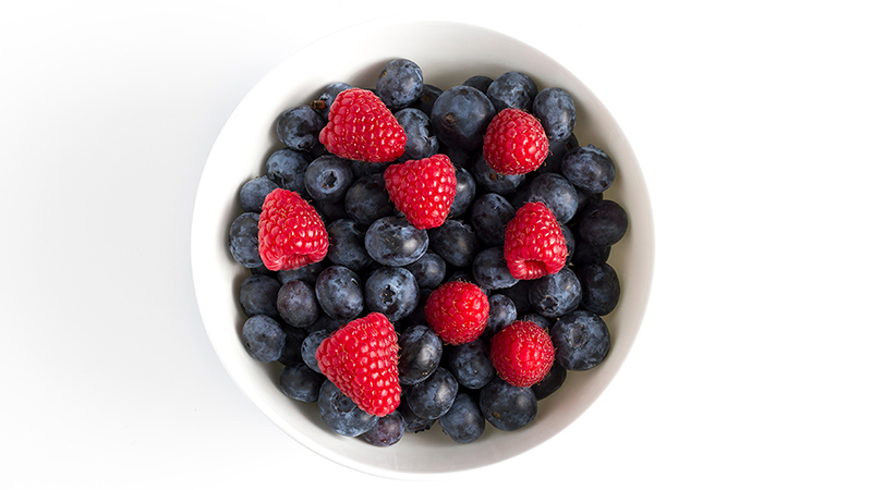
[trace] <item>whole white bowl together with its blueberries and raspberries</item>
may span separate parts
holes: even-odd
[[[246,97],[195,210],[199,224],[202,203],[225,209],[230,266],[213,279],[231,278],[230,321],[205,313],[196,226],[195,283],[228,371],[295,439],[368,471],[468,469],[543,442],[614,376],[646,299],[649,209],[620,132],[558,64],[462,24],[393,28],[422,45],[385,57],[374,36],[379,61],[306,79],[280,70]],[[518,56],[457,63],[425,48],[471,37]],[[279,88],[291,78],[295,89]],[[579,342],[589,328],[590,345]],[[486,451],[467,450],[476,445]]]

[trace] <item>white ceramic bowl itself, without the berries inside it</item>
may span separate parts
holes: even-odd
[[[247,271],[228,252],[228,229],[241,212],[237,200],[240,186],[263,174],[266,158],[281,147],[275,133],[278,114],[315,99],[331,82],[372,87],[393,58],[415,61],[425,83],[443,89],[472,75],[496,77],[512,70],[531,75],[540,89],[567,89],[577,105],[579,143],[594,144],[614,159],[617,180],[606,196],[620,203],[630,217],[630,229],[609,258],[620,275],[622,294],[616,310],[605,318],[613,341],[608,357],[593,370],[570,371],[564,387],[540,403],[537,417],[528,427],[502,432],[488,425],[484,436],[471,444],[452,442],[438,426],[407,434],[390,448],[334,434],[322,424],[316,404],[295,402],[281,393],[281,366],[254,360],[240,341],[245,317],[237,290]],[[324,63],[324,59],[331,62]],[[271,71],[241,101],[215,143],[197,191],[191,238],[203,323],[239,388],[279,428],[312,451],[362,471],[400,477],[500,462],[572,424],[605,390],[630,351],[642,323],[654,256],[652,212],[642,172],[605,107],[548,56],[506,35],[453,22],[384,21],[352,27],[310,45]]]

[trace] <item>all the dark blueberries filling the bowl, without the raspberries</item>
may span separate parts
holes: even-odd
[[[602,149],[579,144],[572,97],[558,87],[540,89],[526,74],[477,75],[443,90],[425,84],[415,63],[393,60],[374,82],[372,90],[407,134],[398,161],[443,154],[453,163],[457,195],[448,219],[431,230],[411,226],[385,188],[383,173],[392,162],[346,160],[324,148],[318,134],[330,105],[351,88],[326,86],[311,105],[279,115],[284,147],[239,192],[242,212],[230,226],[229,248],[251,271],[239,289],[247,317],[242,341],[254,358],[283,365],[279,385],[290,399],[317,403],[327,427],[374,445],[391,445],[437,421],[460,443],[481,437],[486,422],[523,427],[567,371],[596,367],[610,348],[602,317],[616,307],[620,285],[607,259],[628,228],[621,206],[603,195],[615,164]],[[549,155],[534,172],[500,174],[482,156],[487,124],[505,108],[530,112],[545,128]],[[299,193],[318,211],[329,235],[326,259],[296,270],[264,267],[258,213],[276,188]],[[506,224],[529,201],[552,210],[569,254],[559,272],[519,281],[507,273],[502,241]],[[444,344],[424,316],[429,294],[455,280],[479,285],[489,303],[484,334],[461,345]],[[315,360],[325,338],[370,311],[387,316],[399,334],[403,389],[397,412],[376,420],[325,383]],[[558,350],[546,378],[523,389],[499,379],[488,357],[493,335],[519,319],[547,329]],[[573,345],[572,355],[561,357],[560,345]]]

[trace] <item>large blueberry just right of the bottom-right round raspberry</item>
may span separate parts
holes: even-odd
[[[611,348],[606,322],[598,315],[577,310],[561,317],[550,328],[555,363],[571,371],[598,366]]]

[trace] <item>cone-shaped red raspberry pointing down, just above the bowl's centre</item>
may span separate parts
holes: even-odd
[[[419,230],[440,226],[457,195],[455,166],[445,155],[395,163],[385,170],[390,200]]]

